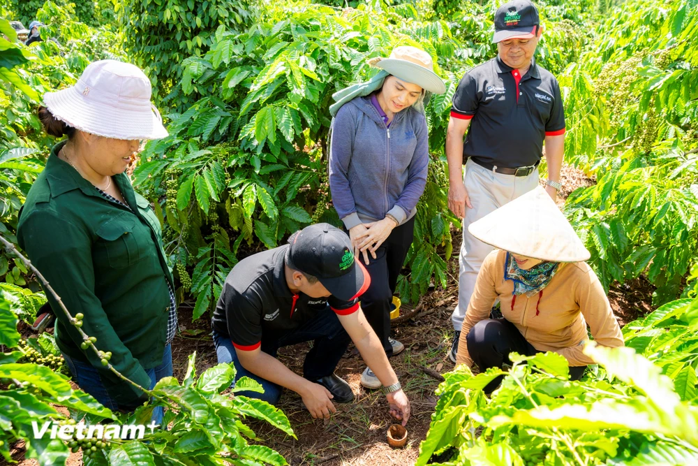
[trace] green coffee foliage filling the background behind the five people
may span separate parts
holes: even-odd
[[[15,14],[33,5],[22,3],[24,13]],[[39,96],[70,85],[91,60],[128,57],[151,77],[170,131],[147,145],[134,182],[161,217],[170,265],[184,285],[179,298],[191,296],[200,316],[239,254],[278,245],[310,221],[339,224],[321,175],[332,93],[375,73],[371,57],[411,44],[436,58],[448,92],[427,107],[429,183],[399,293],[417,301],[430,284],[445,286],[458,225],[446,208],[450,98],[468,68],[496,54],[496,2],[371,0],[346,8],[128,0],[114,7],[103,0],[96,16],[118,19],[96,27],[63,5],[47,1],[34,15],[57,41],[4,52],[14,54],[8,76],[18,78],[5,80],[0,100],[3,157],[21,166],[1,172],[3,233],[12,238],[16,211],[52,143],[34,115]],[[646,274],[658,286],[656,303],[665,303],[681,293],[698,247],[695,48],[688,46],[695,5],[551,0],[539,7],[545,34],[537,61],[563,86],[566,160],[597,176],[594,187],[570,197],[567,214],[604,286]],[[7,259],[0,275],[26,282]]]

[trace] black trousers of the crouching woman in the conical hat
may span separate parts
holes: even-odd
[[[480,321],[470,329],[466,336],[468,353],[473,363],[477,364],[482,372],[489,367],[502,367],[504,363],[511,364],[509,359],[511,352],[523,356],[535,356],[538,351],[526,341],[519,329],[507,319],[486,319]],[[579,380],[584,374],[586,365],[570,367],[570,379]],[[503,377],[497,377],[485,388],[485,393],[491,393],[502,382]]]

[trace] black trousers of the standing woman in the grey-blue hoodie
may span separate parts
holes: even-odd
[[[397,277],[405,263],[407,252],[415,238],[415,217],[396,226],[383,245],[376,250],[376,259],[369,253],[369,265],[364,263],[364,255],[359,253],[357,260],[371,275],[369,289],[359,298],[366,320],[376,332],[388,357],[392,356],[390,337],[390,303],[395,293]]]

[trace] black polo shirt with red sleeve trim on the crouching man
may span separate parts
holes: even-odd
[[[340,315],[359,310],[358,297],[368,289],[370,279],[350,301],[292,293],[284,274],[288,247],[283,245],[246,257],[226,277],[211,326],[230,337],[235,348],[252,351],[260,347],[262,338],[279,340],[326,310],[328,304]]]

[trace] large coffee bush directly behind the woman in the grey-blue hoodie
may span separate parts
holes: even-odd
[[[339,224],[325,175],[317,175],[327,171],[332,94],[366,78],[373,72],[366,60],[400,41],[451,57],[454,41],[444,24],[406,23],[401,8],[269,8],[265,21],[243,33],[218,27],[206,54],[184,60],[181,92],[204,97],[170,115],[170,136],[147,147],[133,182],[158,200],[156,212],[170,231],[165,248],[184,289],[190,285],[182,266],[193,266],[195,318],[214,305],[241,245],[274,247],[311,221]],[[455,91],[450,79],[449,93],[427,109],[437,135]],[[438,136],[432,140],[429,176],[438,184],[429,184],[418,207],[419,239],[408,259],[417,262],[411,278],[401,280],[401,293],[413,300],[432,277],[445,286],[443,257],[450,258],[456,221],[445,210],[443,149]]]

